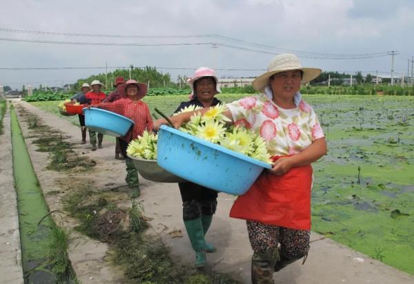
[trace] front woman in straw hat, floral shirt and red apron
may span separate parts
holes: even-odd
[[[311,163],[326,154],[326,141],[315,111],[302,100],[299,88],[320,73],[317,68],[303,68],[295,55],[277,55],[267,72],[253,81],[260,95],[227,104],[226,116],[260,133],[275,161],[230,211],[231,217],[247,223],[254,252],[253,283],[273,283],[273,272],[308,254]],[[171,120],[179,126],[191,115],[183,113]],[[160,124],[167,122],[157,120],[155,129]]]

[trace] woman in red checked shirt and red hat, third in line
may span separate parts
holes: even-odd
[[[125,158],[126,163],[126,183],[128,187],[132,189],[132,197],[139,196],[139,180],[137,169],[135,169],[134,163],[126,155],[126,149],[129,142],[136,139],[139,135],[142,135],[145,130],[152,130],[152,119],[150,115],[150,109],[148,105],[141,101],[146,96],[147,86],[146,84],[139,83],[134,79],[129,79],[125,84],[121,84],[117,88],[121,99],[116,102],[103,102],[95,105],[98,108],[106,109],[107,111],[113,111],[128,117],[135,122],[132,130],[128,131],[125,137],[119,139],[119,146],[121,148],[121,154]]]

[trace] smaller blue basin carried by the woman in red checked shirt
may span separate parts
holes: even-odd
[[[85,113],[86,127],[91,131],[106,135],[125,136],[134,124],[128,117],[100,108],[83,108],[83,112]]]

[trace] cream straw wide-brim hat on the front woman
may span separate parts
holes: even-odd
[[[276,55],[270,60],[266,73],[260,75],[253,81],[253,88],[256,91],[264,93],[264,88],[269,85],[270,76],[289,70],[302,70],[302,84],[312,81],[322,73],[322,70],[319,68],[302,67],[296,55],[284,53]]]

